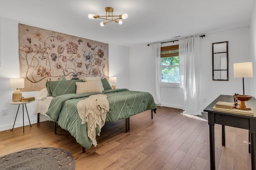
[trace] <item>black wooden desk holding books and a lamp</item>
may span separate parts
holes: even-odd
[[[222,125],[222,145],[225,146],[225,125],[248,129],[251,133],[251,158],[252,170],[256,170],[256,100],[251,98],[246,101],[246,107],[252,107],[254,115],[242,115],[225,111],[216,111],[212,107],[218,102],[234,102],[233,96],[220,95],[204,111],[208,112],[208,125],[210,130],[210,168],[215,170],[215,143],[214,125]],[[239,102],[238,102],[239,103]]]

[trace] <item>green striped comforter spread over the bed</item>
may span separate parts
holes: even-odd
[[[109,112],[106,122],[126,119],[149,109],[156,109],[152,95],[148,92],[136,92],[128,89],[104,90],[109,102]],[[80,100],[88,98],[92,94],[64,94],[52,99],[46,114],[50,121],[58,123],[62,129],[70,132],[76,141],[83,147],[89,149],[92,141],[87,136],[87,123],[82,124],[78,115],[76,104]]]

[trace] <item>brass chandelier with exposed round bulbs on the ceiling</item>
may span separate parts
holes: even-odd
[[[106,16],[99,16],[99,15],[94,15],[94,14],[88,14],[88,18],[89,19],[101,18],[101,19],[104,19],[104,20],[109,20],[107,22],[101,22],[100,26],[102,26],[102,27],[104,25],[106,25],[106,23],[109,23],[111,21],[115,21],[115,22],[119,23],[120,25],[122,25],[123,21],[121,19],[125,20],[126,18],[128,18],[128,14],[122,14],[122,15],[118,15],[118,16],[113,16],[114,8],[111,8],[111,7],[106,7],[105,11],[106,11]],[[108,13],[108,15],[107,15],[107,13]],[[110,13],[111,13],[111,15],[110,15]]]

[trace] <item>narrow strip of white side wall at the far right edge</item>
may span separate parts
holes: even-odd
[[[250,24],[250,37],[251,37],[251,60],[252,60],[252,67],[253,67],[253,76],[251,78],[251,95],[256,97],[256,1],[254,0],[254,5],[252,9],[252,20]]]

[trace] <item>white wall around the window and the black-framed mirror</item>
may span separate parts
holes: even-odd
[[[229,81],[212,81],[212,43],[228,41]],[[203,110],[220,94],[242,94],[242,78],[234,78],[233,63],[250,61],[250,28],[206,34],[200,39],[200,107]],[[150,47],[146,44],[130,48],[130,88],[147,90],[150,86]],[[245,93],[250,94],[250,78],[245,78]],[[161,87],[163,106],[182,108],[180,88]],[[202,98],[206,102],[202,102]]]

